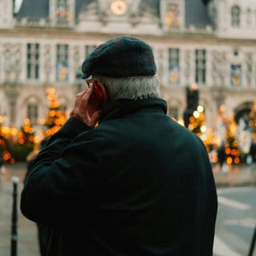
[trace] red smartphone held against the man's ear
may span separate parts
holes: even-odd
[[[92,94],[90,95],[90,99],[87,106],[87,110],[90,116],[94,114],[95,111],[102,109],[103,99],[104,98],[103,98],[102,90],[98,86],[97,80],[94,80],[93,91],[92,91]]]

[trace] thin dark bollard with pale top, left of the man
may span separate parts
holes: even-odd
[[[18,247],[18,182],[19,178],[14,176],[12,179],[13,182],[13,210],[11,218],[11,241],[10,241],[10,255],[17,256],[17,247]]]

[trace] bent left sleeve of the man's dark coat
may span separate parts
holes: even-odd
[[[57,228],[81,219],[80,206],[90,204],[100,165],[92,131],[70,118],[40,151],[22,190],[20,207],[26,218]]]

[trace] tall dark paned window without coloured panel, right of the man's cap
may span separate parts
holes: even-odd
[[[206,50],[195,50],[195,82],[206,82]]]

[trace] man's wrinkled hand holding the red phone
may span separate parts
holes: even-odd
[[[96,110],[93,114],[89,114],[88,106],[92,92],[93,89],[90,87],[89,89],[83,90],[81,93],[77,94],[74,102],[74,108],[70,112],[70,118],[78,118],[84,122],[86,126],[94,128],[98,122],[101,110]]]

